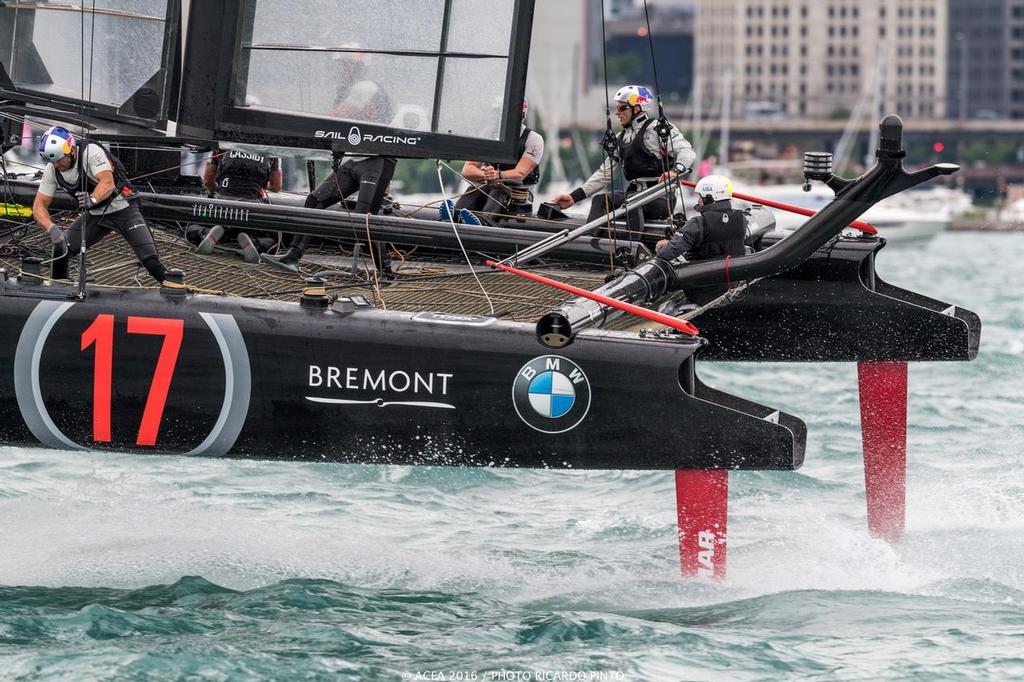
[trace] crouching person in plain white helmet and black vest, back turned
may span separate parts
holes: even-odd
[[[732,208],[732,182],[722,175],[700,178],[696,186],[697,214],[671,240],[657,243],[657,258],[688,261],[737,257],[746,253],[746,214]],[[722,285],[686,289],[686,298],[697,305],[715,300],[726,291]]]

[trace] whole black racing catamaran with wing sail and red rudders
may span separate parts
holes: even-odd
[[[616,229],[615,214],[473,227],[199,196],[180,173],[182,150],[513,160],[532,0],[309,5],[0,7],[5,144],[26,121],[109,144],[145,180],[143,213],[167,260],[185,269],[159,288],[133,285],[137,266],[111,238],[83,250],[76,279],[48,278],[43,236],[23,215],[35,184],[6,175],[4,203],[18,215],[5,223],[0,256],[0,441],[675,470],[684,570],[721,576],[728,471],[799,467],[806,427],[706,385],[699,361],[848,360],[861,364],[869,408],[869,522],[881,535],[902,530],[905,363],[973,358],[980,321],[886,284],[873,267],[885,242],[862,223],[856,236],[844,230],[879,201],[955,166],[907,173],[902,121],[886,117],[878,163],[861,177],[838,177],[822,155],[807,157],[805,175],[835,200],[801,227],[778,232],[769,213],[752,210],[762,229],[750,253],[700,262],[651,257],[648,236]],[[67,40],[47,38],[55,33]],[[360,78],[386,89],[400,115],[338,113],[337,81],[351,59],[373,67]],[[53,208],[74,206],[56,198]],[[450,269],[381,287],[328,259],[318,267],[338,266],[303,282],[201,257],[175,237],[185,223],[308,233],[328,251],[382,240],[429,251],[434,267]],[[724,293],[680,307],[681,292],[708,286]]]

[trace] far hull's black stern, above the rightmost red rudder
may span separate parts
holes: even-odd
[[[771,240],[769,240],[771,242]],[[885,243],[841,240],[797,267],[753,284],[695,322],[716,360],[971,360],[981,319],[971,310],[879,278]]]

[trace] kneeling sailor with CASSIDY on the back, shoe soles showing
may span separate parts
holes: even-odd
[[[214,199],[230,199],[241,202],[265,202],[266,189],[281,191],[281,160],[266,158],[253,152],[231,150],[215,152],[203,170],[203,186]],[[214,247],[224,237],[224,227],[214,225],[189,225],[186,237],[197,244],[199,253],[211,254]],[[254,232],[251,236],[238,231],[236,240],[241,250],[239,255],[250,263],[259,262],[260,251],[265,251],[273,243],[269,235]],[[262,247],[262,248],[261,248]]]

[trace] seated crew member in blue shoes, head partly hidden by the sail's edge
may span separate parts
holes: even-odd
[[[478,184],[463,195],[455,205],[458,218],[470,225],[480,224],[475,211],[499,216],[514,216],[534,210],[532,187],[541,179],[541,159],[544,158],[544,138],[541,133],[526,127],[526,112],[529,102],[522,102],[522,124],[519,127],[519,142],[516,145],[516,163],[488,164],[467,161],[462,167],[462,176],[471,183]],[[452,210],[447,200],[440,208],[440,219],[447,220]],[[496,224],[486,215],[483,219]]]

